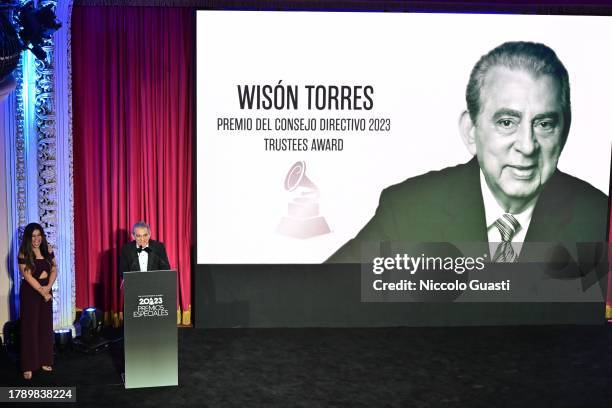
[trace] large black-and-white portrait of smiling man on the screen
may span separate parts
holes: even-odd
[[[466,101],[460,132],[474,157],[386,188],[373,218],[328,262],[364,261],[367,242],[489,242],[493,262],[515,262],[529,253],[524,242],[605,241],[607,197],[557,169],[571,108],[554,51],[496,47],[474,66]]]

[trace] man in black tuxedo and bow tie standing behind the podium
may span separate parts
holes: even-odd
[[[160,271],[170,269],[166,247],[151,239],[151,228],[144,221],[132,227],[131,242],[121,248],[119,255],[119,275],[130,271]]]

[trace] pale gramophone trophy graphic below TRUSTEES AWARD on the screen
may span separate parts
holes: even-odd
[[[319,189],[306,177],[305,162],[298,161],[291,166],[285,177],[285,190],[294,192],[294,196],[276,232],[300,239],[330,232],[327,221],[319,215]]]

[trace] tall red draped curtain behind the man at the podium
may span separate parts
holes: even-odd
[[[121,323],[117,257],[145,220],[188,324],[194,12],[75,6],[71,30],[76,306]]]

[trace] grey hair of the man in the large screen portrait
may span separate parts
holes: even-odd
[[[566,138],[572,121],[569,75],[557,54],[548,46],[540,43],[507,42],[480,58],[472,69],[465,93],[472,122],[476,123],[478,115],[481,113],[480,91],[484,87],[486,75],[491,68],[499,66],[512,70],[527,71],[536,78],[542,75],[550,75],[559,81],[564,121],[563,137]]]

